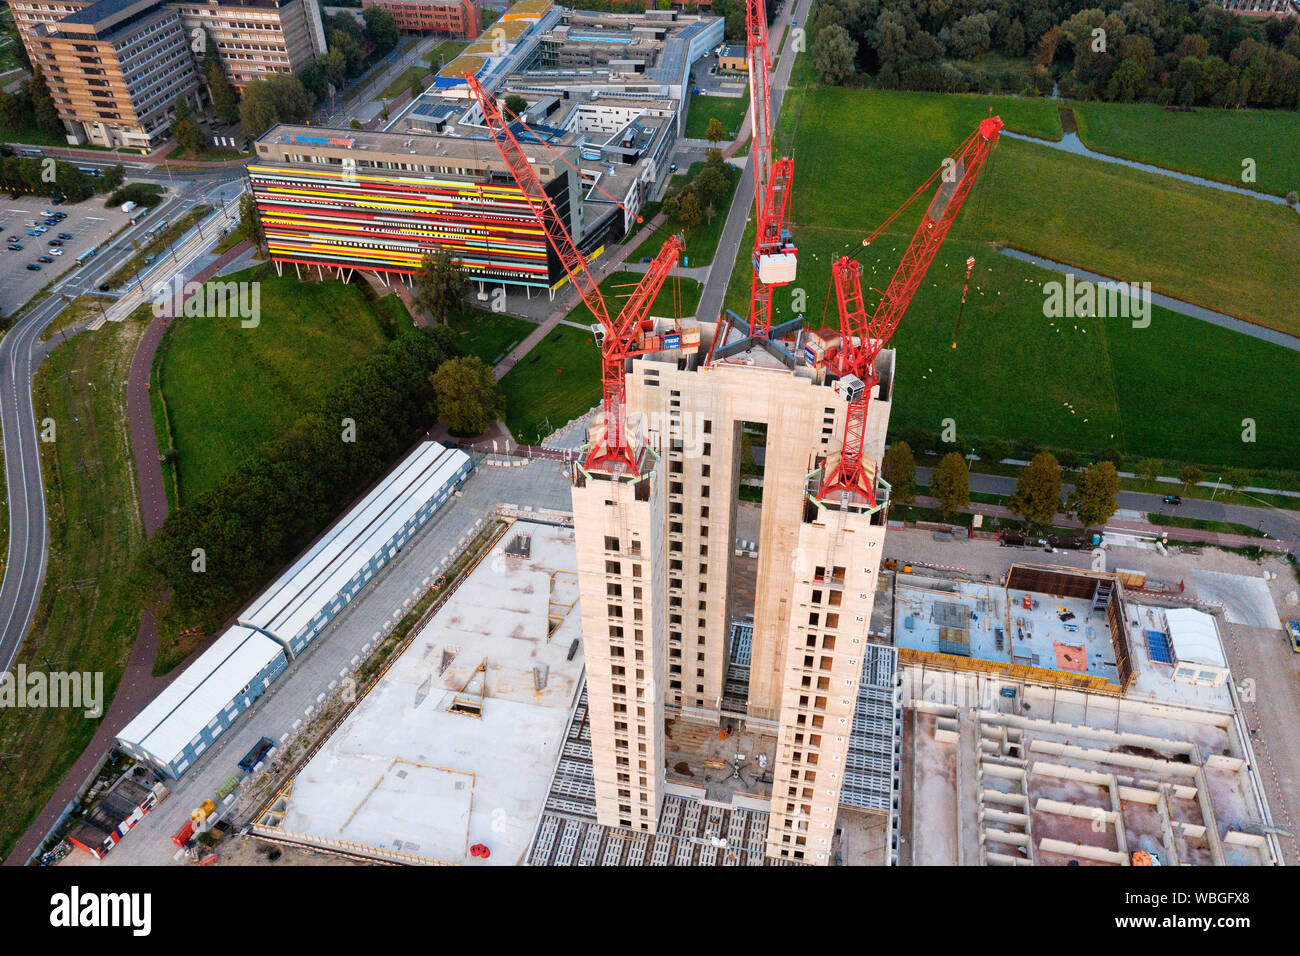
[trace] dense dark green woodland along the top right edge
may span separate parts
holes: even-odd
[[[1260,22],[1191,0],[1093,3],[818,0],[814,66],[824,83],[887,90],[1032,94],[1056,85],[1084,100],[1300,105],[1296,17]],[[1008,61],[1019,62],[997,65]]]

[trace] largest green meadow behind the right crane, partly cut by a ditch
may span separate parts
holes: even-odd
[[[792,293],[802,289],[809,324],[833,325],[835,304],[823,310],[838,255],[863,259],[864,287],[885,286],[919,211],[909,211],[896,224],[901,228],[871,250],[862,248],[862,237],[987,114],[989,99],[812,88],[801,111],[784,114],[785,121],[798,116],[800,281],[777,294],[779,313],[794,313]],[[1054,105],[1043,100],[998,103],[997,109],[1018,129],[1057,122]],[[846,114],[857,121],[845,124]],[[1300,355],[1158,308],[1145,329],[1121,319],[1082,321],[1078,329],[1074,320],[1050,325],[1041,284],[1060,277],[996,252],[996,243],[1014,245],[1147,280],[1182,298],[1196,298],[1188,289],[1199,289],[1225,311],[1252,303],[1257,316],[1275,324],[1300,321],[1287,315],[1287,303],[1300,299],[1300,263],[1291,264],[1300,255],[1300,222],[1275,220],[1273,207],[1258,200],[1101,168],[1108,165],[1010,139],[998,144],[894,337],[900,395],[907,401],[894,406],[893,428],[937,432],[942,419],[953,418],[958,433],[971,437],[1294,467],[1300,410],[1270,382],[1296,381]],[[1140,217],[1127,221],[1135,209]],[[1187,222],[1214,222],[1216,229]],[[1238,246],[1225,243],[1225,234]],[[750,242],[751,232],[741,246]],[[976,267],[954,351],[968,255]],[[727,306],[744,311],[748,297],[749,265],[737,261]],[[868,307],[876,299],[867,293]],[[1245,418],[1260,429],[1253,444],[1242,441]]]

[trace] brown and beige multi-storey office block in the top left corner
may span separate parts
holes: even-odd
[[[325,52],[315,0],[14,0],[12,8],[72,143],[157,146],[177,96],[202,101],[204,30],[237,87]]]

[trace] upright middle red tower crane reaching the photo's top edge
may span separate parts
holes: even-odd
[[[763,0],[748,0],[745,9],[749,49],[749,118],[754,166],[754,277],[749,293],[749,334],[766,338],[772,328],[772,290],[794,280],[798,251],[790,241],[786,216],[794,185],[794,160],[772,156],[772,96],[767,51],[767,9]]]

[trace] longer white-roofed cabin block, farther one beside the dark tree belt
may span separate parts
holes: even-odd
[[[239,623],[302,653],[469,475],[469,455],[421,444],[242,615]]]

